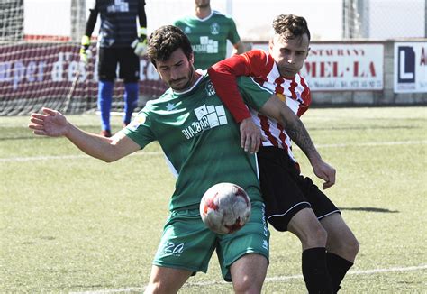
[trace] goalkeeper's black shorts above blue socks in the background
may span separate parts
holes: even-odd
[[[136,83],[140,79],[140,59],[131,47],[98,49],[98,78],[102,81],[114,81],[119,64],[119,78],[124,83]]]

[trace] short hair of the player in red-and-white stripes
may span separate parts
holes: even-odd
[[[304,33],[308,35],[310,41],[310,31],[307,21],[303,16],[294,14],[280,14],[273,21],[274,32],[286,39],[295,39],[301,37]]]

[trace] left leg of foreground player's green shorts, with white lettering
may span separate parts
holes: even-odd
[[[216,246],[216,234],[203,223],[198,209],[174,212],[163,229],[154,265],[206,272]]]

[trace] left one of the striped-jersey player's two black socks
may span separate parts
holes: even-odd
[[[332,293],[332,281],[326,267],[326,249],[324,247],[304,250],[303,276],[310,294]]]

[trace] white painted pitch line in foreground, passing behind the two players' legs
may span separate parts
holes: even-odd
[[[386,273],[394,271],[422,271],[427,270],[427,264],[417,265],[417,266],[408,266],[404,268],[389,268],[389,269],[374,269],[374,270],[365,270],[365,271],[349,271],[348,275],[364,275],[364,274],[377,274],[377,273]],[[265,282],[276,282],[276,281],[285,281],[285,280],[295,280],[303,279],[303,275],[293,275],[293,276],[279,276],[279,277],[269,277],[266,278]],[[187,282],[186,287],[200,287],[200,286],[209,286],[209,285],[219,285],[227,284],[223,280],[213,280],[213,281],[201,281],[201,282]],[[70,292],[70,294],[108,294],[108,293],[126,293],[126,292],[135,292],[143,291],[145,287],[141,288],[123,288],[123,289],[101,289],[95,291],[85,291],[85,292]]]

